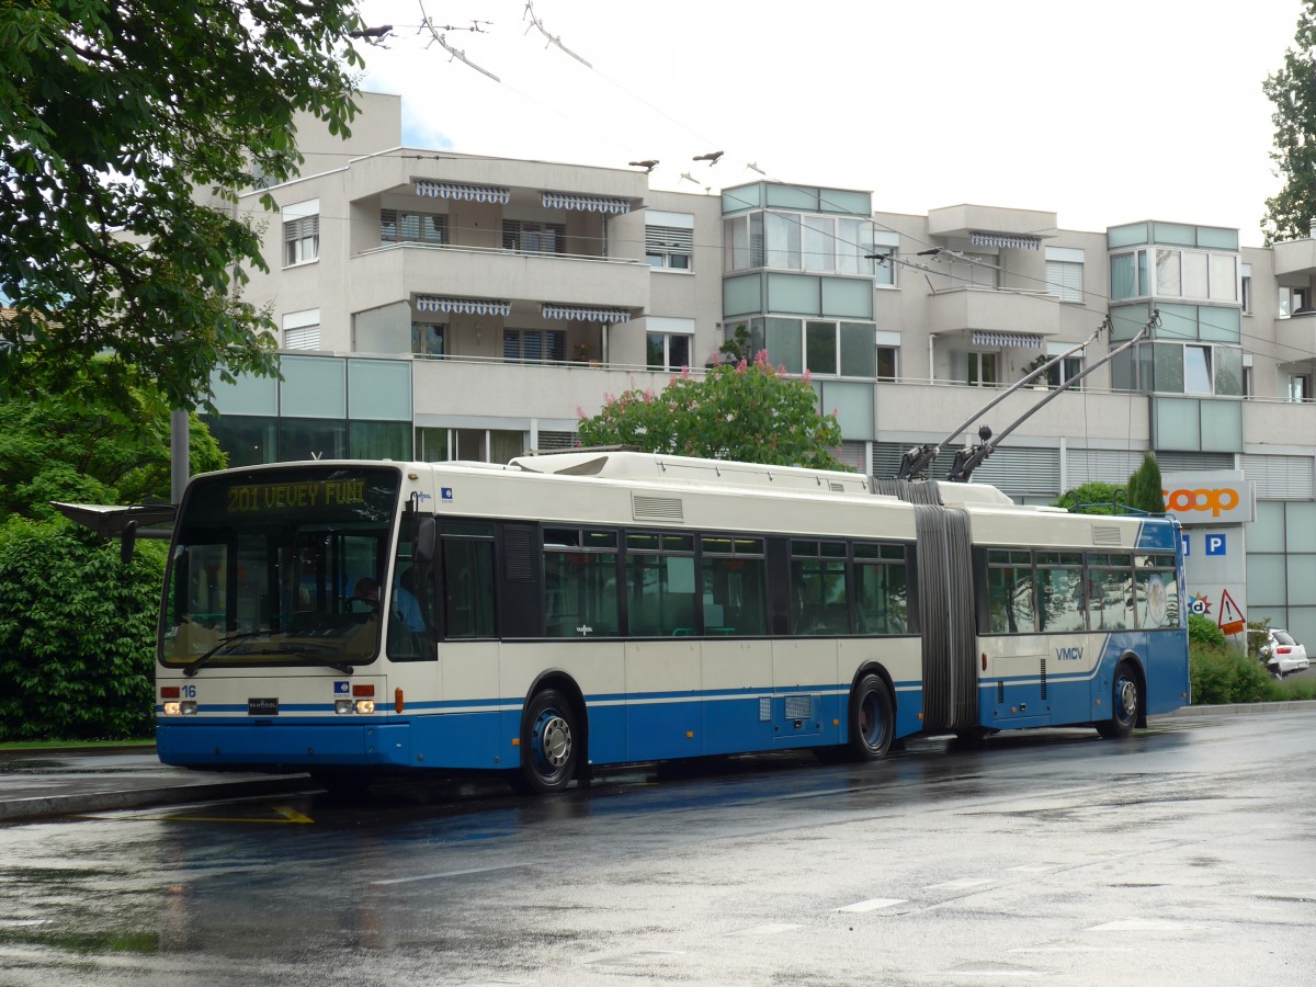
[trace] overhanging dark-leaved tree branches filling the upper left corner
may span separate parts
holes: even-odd
[[[191,409],[216,367],[276,372],[240,296],[259,234],[229,207],[296,174],[297,111],[347,133],[359,26],[353,0],[0,4],[0,380],[34,390],[33,357],[63,390],[108,351],[113,396]]]

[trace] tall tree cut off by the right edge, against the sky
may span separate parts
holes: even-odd
[[[1294,47],[1284,63],[1266,76],[1262,91],[1275,105],[1275,146],[1270,159],[1283,178],[1279,193],[1266,200],[1261,220],[1266,245],[1309,236],[1316,220],[1316,0],[1307,0],[1298,16]]]

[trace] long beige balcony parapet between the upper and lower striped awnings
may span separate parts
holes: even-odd
[[[347,280],[354,312],[417,293],[642,312],[651,278],[634,259],[397,243],[353,257]]]

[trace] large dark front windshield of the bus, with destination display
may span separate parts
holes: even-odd
[[[204,476],[179,515],[161,661],[345,670],[379,653],[399,472],[297,466]]]

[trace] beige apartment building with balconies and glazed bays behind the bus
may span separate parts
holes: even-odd
[[[263,225],[271,270],[246,297],[274,312],[284,380],[217,386],[209,424],[234,465],[567,446],[579,411],[701,372],[744,328],[811,374],[841,457],[870,475],[1016,422],[974,478],[1024,501],[1123,483],[1146,449],[1166,472],[1242,471],[1249,617],[1316,642],[1316,240],[899,215],[867,191],[767,180],[661,191],[636,167],[405,147],[400,99],[362,105],[347,142],[308,121],[303,178],[238,204]],[[980,413],[1059,354],[1048,382]]]

